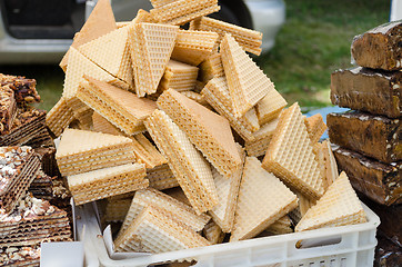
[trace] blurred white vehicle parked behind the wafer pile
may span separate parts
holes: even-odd
[[[0,0],[0,63],[58,63],[96,0]],[[263,33],[262,50],[274,44],[285,19],[283,0],[222,0],[211,17]],[[132,20],[149,0],[112,0],[117,21]]]

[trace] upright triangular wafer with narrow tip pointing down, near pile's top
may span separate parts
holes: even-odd
[[[129,27],[131,60],[139,97],[154,93],[174,47],[179,27],[133,23]]]

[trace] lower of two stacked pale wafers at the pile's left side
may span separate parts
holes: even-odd
[[[128,164],[67,178],[76,205],[118,196],[148,187],[145,166]]]

